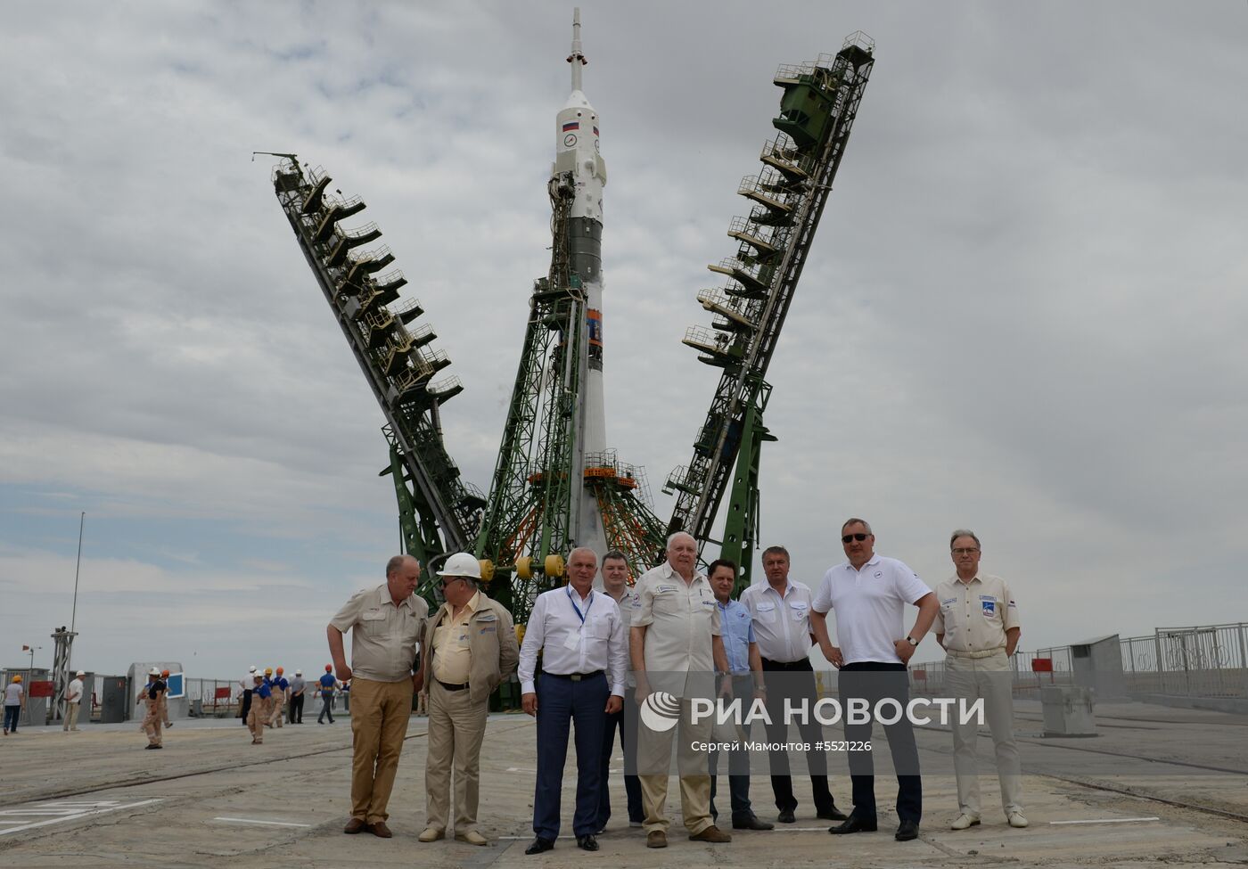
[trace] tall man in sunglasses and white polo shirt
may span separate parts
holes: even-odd
[[[811,627],[824,657],[841,670],[841,705],[865,699],[874,710],[889,698],[904,712],[910,700],[906,662],[927,633],[940,609],[936,596],[919,574],[896,558],[875,554],[875,534],[865,519],[851,518],[841,526],[841,543],[849,561],[830,568],[811,603]],[[910,633],[902,636],[906,604],[919,607]],[[827,612],[836,611],[836,636],[840,647],[827,634]],[[890,715],[891,717],[891,715]],[[871,740],[871,722],[850,724],[845,718],[845,740]],[[889,752],[897,773],[897,842],[919,838],[922,818],[922,784],[919,778],[919,749],[910,719],[901,714],[896,723],[885,724]],[[871,752],[849,750],[850,779],[854,784],[854,810],[834,834],[864,833],[876,829],[875,765]]]

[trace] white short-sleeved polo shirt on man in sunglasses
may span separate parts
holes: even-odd
[[[900,664],[894,643],[906,636],[906,607],[930,593],[905,563],[872,556],[861,571],[849,562],[829,568],[811,607],[816,613],[836,612],[836,638],[846,664]]]

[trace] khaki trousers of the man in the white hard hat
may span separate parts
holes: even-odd
[[[473,705],[468,689],[429,687],[429,754],[424,763],[424,824],[446,830],[449,818],[451,770],[454,768],[456,835],[477,827],[480,793],[480,742],[489,700]]]

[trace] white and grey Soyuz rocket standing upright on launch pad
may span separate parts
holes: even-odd
[[[555,154],[552,177],[572,172],[577,195],[568,220],[568,253],[572,272],[580,276],[585,291],[588,348],[582,355],[580,396],[578,396],[577,448],[578,471],[587,459],[607,449],[607,413],[603,403],[603,187],[607,164],[598,147],[598,112],[580,89],[582,67],[588,62],[580,49],[580,9],[572,19],[572,94],[555,119]],[[602,562],[607,534],[598,501],[582,487],[579,504],[573,504],[572,539],[588,546]]]

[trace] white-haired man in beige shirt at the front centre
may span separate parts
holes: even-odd
[[[715,672],[728,672],[715,593],[696,561],[698,543],[690,534],[676,532],[668,538],[668,561],[636,581],[629,654],[636,675],[636,703],[641,707],[638,773],[648,848],[668,847],[668,765],[676,722],[664,718],[679,718],[680,810],[689,838],[733,840],[710,817],[706,752],[691,748],[710,740],[713,719],[694,724],[690,700],[713,697]],[[646,705],[651,690],[655,698]]]

